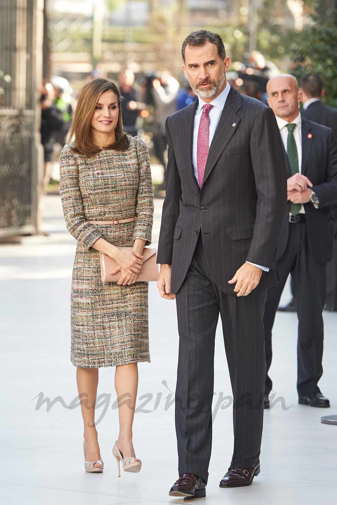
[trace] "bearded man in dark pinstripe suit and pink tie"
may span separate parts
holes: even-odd
[[[221,315],[233,391],[234,451],[221,487],[260,472],[266,373],[263,312],[278,282],[285,162],[272,111],[226,82],[219,35],[182,45],[199,99],[169,116],[166,197],[157,261],[162,297],[176,299],[175,422],[179,478],[171,496],[205,496],[212,444],[214,339]]]

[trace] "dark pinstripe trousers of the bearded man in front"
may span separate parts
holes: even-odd
[[[229,280],[229,279],[228,279]],[[234,285],[233,285],[234,288]],[[251,467],[260,455],[266,374],[263,311],[267,292],[226,294],[210,277],[201,233],[176,294],[179,330],[175,426],[178,473],[206,483],[212,445],[214,341],[219,318],[233,393],[231,466]],[[228,439],[228,433],[223,433]]]

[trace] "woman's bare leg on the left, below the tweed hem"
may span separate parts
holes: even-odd
[[[84,424],[85,459],[86,461],[101,460],[100,446],[97,438],[98,434],[94,423],[94,407],[99,383],[99,369],[77,367],[76,381],[78,395],[86,393],[86,395],[83,394],[83,396],[80,396]],[[99,463],[95,463],[93,466],[94,468],[102,467]]]

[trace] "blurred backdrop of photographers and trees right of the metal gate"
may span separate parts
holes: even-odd
[[[43,187],[66,142],[81,87],[105,77],[120,86],[125,129],[146,141],[152,161],[161,167],[155,192],[164,196],[164,122],[196,99],[180,61],[181,41],[193,29],[209,28],[222,36],[232,61],[227,80],[241,93],[266,103],[270,77],[290,72],[300,80],[319,73],[325,89],[324,97],[319,97],[337,104],[337,57],[328,49],[331,37],[336,37],[331,1],[45,0],[44,4]],[[57,180],[52,183],[57,186]]]

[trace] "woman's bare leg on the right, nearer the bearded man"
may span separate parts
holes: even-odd
[[[117,439],[117,447],[121,451],[123,459],[136,457],[132,443],[132,423],[136,404],[137,388],[137,363],[117,366],[115,372],[115,389],[117,398],[119,399],[119,436]],[[124,393],[129,393],[131,396],[124,397]],[[121,397],[122,399],[120,399]],[[136,459],[135,461],[139,460]]]

